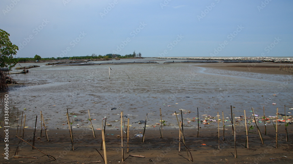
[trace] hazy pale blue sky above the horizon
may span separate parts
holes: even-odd
[[[1,0],[16,57],[293,56],[291,0]]]

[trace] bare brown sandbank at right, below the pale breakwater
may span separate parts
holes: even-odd
[[[205,63],[200,67],[231,70],[239,72],[267,73],[278,75],[292,75],[292,73],[279,70],[284,63]]]

